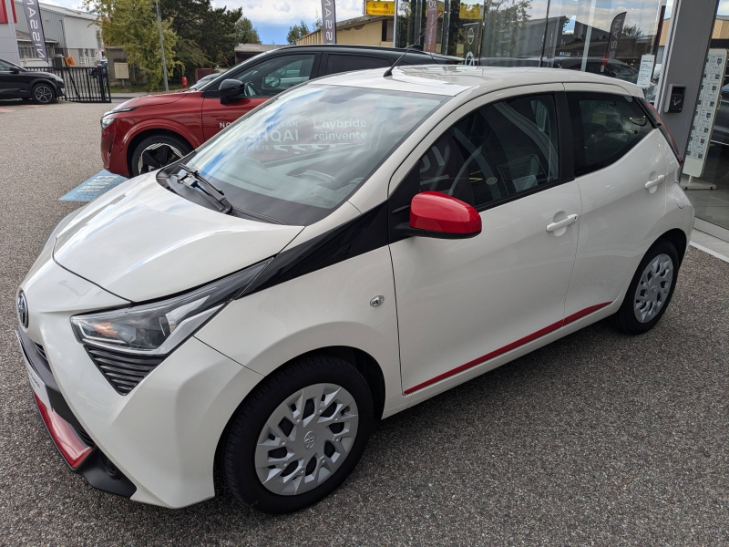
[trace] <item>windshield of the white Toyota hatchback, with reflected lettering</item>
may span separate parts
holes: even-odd
[[[306,85],[239,119],[188,165],[240,210],[311,224],[349,198],[444,100]]]

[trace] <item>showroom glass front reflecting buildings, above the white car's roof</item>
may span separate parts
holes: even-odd
[[[658,50],[661,0],[400,0],[395,46],[468,65],[555,67],[637,83]],[[437,8],[435,8],[437,6]],[[437,9],[436,37],[421,36]],[[426,33],[427,35],[428,33]]]

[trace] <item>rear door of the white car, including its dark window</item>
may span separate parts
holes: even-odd
[[[567,93],[575,175],[582,196],[580,243],[565,313],[621,295],[665,212],[668,143],[638,101]]]

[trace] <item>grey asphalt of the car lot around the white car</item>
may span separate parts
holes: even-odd
[[[101,169],[107,108],[0,103],[0,544],[729,544],[729,263],[693,248],[652,332],[591,325],[386,419],[305,511],[91,489],[36,412],[14,294],[78,205],[58,197]]]

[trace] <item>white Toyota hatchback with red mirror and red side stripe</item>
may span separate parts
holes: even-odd
[[[321,500],[378,419],[661,319],[693,223],[661,123],[629,83],[533,67],[282,93],[51,234],[17,293],[46,427],[135,501],[210,498],[216,465],[260,511]]]

